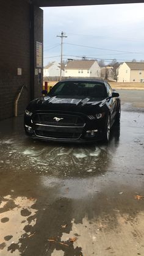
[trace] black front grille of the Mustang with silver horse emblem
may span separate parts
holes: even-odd
[[[82,117],[70,114],[37,113],[32,117],[37,137],[79,139],[85,123]]]

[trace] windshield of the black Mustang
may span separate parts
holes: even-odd
[[[49,96],[78,96],[91,98],[106,98],[106,87],[102,82],[59,82],[52,87]]]

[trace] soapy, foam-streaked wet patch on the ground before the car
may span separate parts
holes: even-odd
[[[106,172],[117,151],[120,127],[113,127],[109,144],[71,145],[10,138],[1,139],[2,170],[29,170],[56,177],[99,175]],[[9,158],[7,158],[9,156]],[[19,159],[19,161],[17,161]]]

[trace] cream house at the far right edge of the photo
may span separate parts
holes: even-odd
[[[144,62],[124,62],[117,73],[117,82],[144,82]]]

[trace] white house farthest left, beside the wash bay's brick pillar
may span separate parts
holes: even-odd
[[[62,67],[62,76],[64,76],[64,70]],[[46,67],[43,68],[43,76],[60,76],[60,64],[56,61],[46,65]]]

